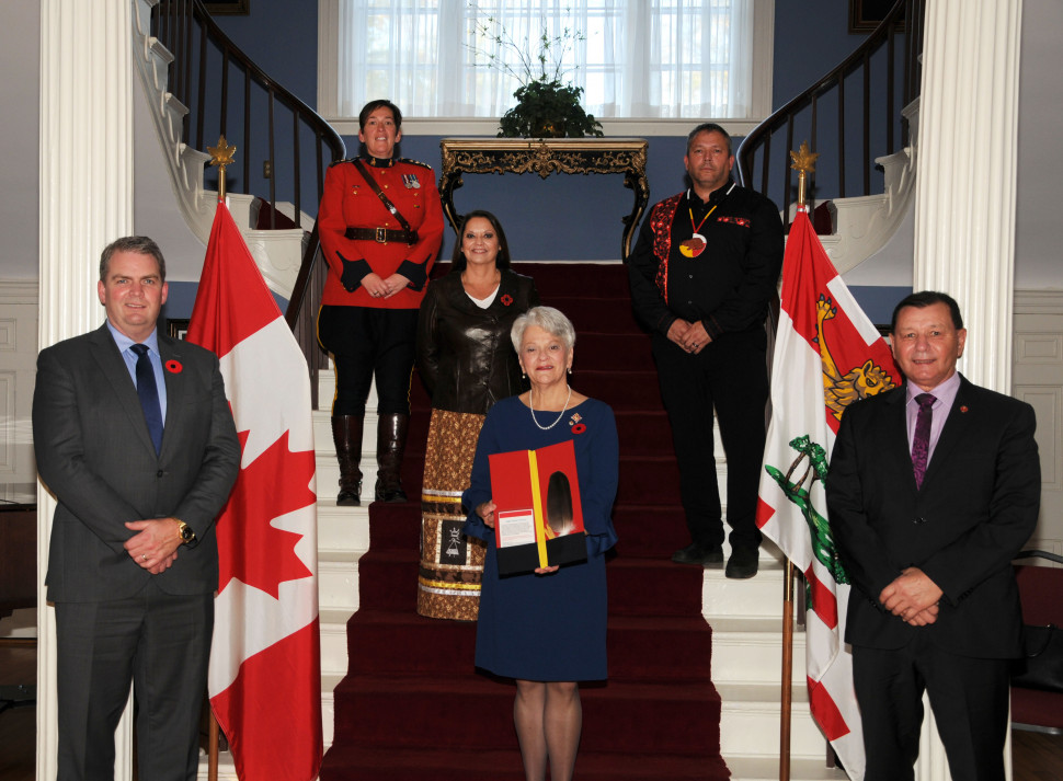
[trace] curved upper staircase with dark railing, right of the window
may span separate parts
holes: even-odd
[[[735,151],[740,183],[778,204],[786,226],[797,208],[789,153],[805,141],[810,151],[822,152],[809,197],[812,206],[830,200],[837,209],[832,236],[822,242],[842,274],[882,250],[914,207],[925,4],[896,0],[848,57],[754,128]],[[830,146],[818,146],[820,127],[832,128]],[[884,174],[881,192],[872,169]]]

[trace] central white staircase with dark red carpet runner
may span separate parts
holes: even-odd
[[[581,264],[582,265],[582,264]],[[582,266],[583,269],[586,266]],[[628,403],[637,401],[647,406],[645,413],[640,413],[643,417],[659,417],[654,425],[637,425],[636,435],[631,436],[632,421],[625,421],[625,415],[618,412],[618,426],[620,428],[621,459],[630,459],[632,451],[638,452],[644,444],[647,437],[656,439],[667,437],[667,423],[663,411],[660,410],[660,400],[655,387],[655,372],[652,363],[649,363],[648,338],[641,334],[633,333],[633,322],[630,328],[625,328],[626,333],[606,336],[606,341],[615,340],[616,344],[622,349],[628,351],[630,360],[625,363],[622,370],[617,370],[605,356],[606,349],[602,349],[603,342],[595,337],[591,338],[590,333],[594,331],[595,323],[602,322],[603,318],[609,317],[608,310],[616,311],[618,302],[609,301],[619,297],[622,300],[619,306],[627,314],[629,305],[626,301],[627,288],[624,271],[615,265],[601,265],[602,284],[595,291],[587,295],[565,296],[564,279],[571,272],[576,273],[575,267],[560,264],[528,265],[522,268],[523,273],[534,275],[538,280],[540,295],[544,302],[559,307],[569,313],[576,324],[576,359],[573,382],[581,390],[614,403],[619,409],[621,402]],[[583,352],[581,353],[581,348]],[[614,352],[614,351],[608,351]],[[642,375],[642,377],[637,377]],[[652,382],[647,384],[645,380]],[[638,381],[638,380],[642,381]],[[333,377],[331,371],[325,371],[320,380],[320,398],[328,400],[332,398]],[[649,391],[647,390],[649,388]],[[423,441],[427,427],[427,399],[420,382],[414,378],[413,383],[414,418],[411,425],[411,440],[409,446],[408,459],[403,469],[403,481],[411,497],[418,495],[421,484],[420,470],[422,469]],[[327,407],[327,404],[323,404]],[[376,478],[376,467],[373,456],[376,420],[374,415],[374,400],[369,402],[369,413],[366,417],[365,449],[363,457],[363,471],[365,472],[364,494],[372,497],[372,486]],[[629,435],[625,435],[625,430]],[[370,540],[370,520],[368,507],[361,508],[338,508],[334,505],[334,494],[339,470],[332,448],[331,429],[329,425],[329,413],[325,410],[315,413],[315,435],[316,450],[318,456],[318,543],[319,543],[319,599],[321,615],[321,664],[322,664],[322,717],[324,723],[324,740],[327,748],[333,743],[336,720],[335,707],[333,701],[333,690],[350,671],[365,671],[370,668],[391,670],[399,676],[400,680],[407,680],[409,675],[423,670],[426,666],[431,667],[433,662],[427,658],[423,650],[409,647],[380,648],[361,644],[359,641],[348,638],[348,620],[359,609],[359,592],[366,588],[372,589],[375,595],[379,595],[381,588],[393,592],[387,599],[404,601],[407,605],[407,616],[411,620],[416,620],[412,616],[415,601],[416,588],[416,527],[402,526],[398,516],[388,512],[384,517],[375,518],[373,521],[374,535]],[[719,455],[719,472],[721,478],[724,474],[725,466],[722,453]],[[677,474],[674,463],[665,459],[659,463],[651,475],[640,478],[638,473],[626,470],[621,467],[621,487],[620,501],[627,496],[631,504],[632,496],[649,495],[655,493],[672,494],[675,496],[677,491]],[[721,485],[725,481],[721,480]],[[618,504],[620,504],[618,502]],[[667,505],[667,502],[663,502]],[[385,510],[391,510],[387,507]],[[408,513],[416,515],[415,503],[407,506],[398,506]],[[641,518],[652,516],[653,524],[639,522]],[[656,560],[654,574],[640,576],[633,582],[632,587],[647,589],[662,578],[688,578],[689,599],[693,605],[698,600],[701,605],[701,615],[711,628],[711,651],[707,644],[704,648],[695,645],[686,652],[687,655],[704,654],[706,657],[711,653],[711,679],[719,691],[722,700],[721,707],[721,735],[720,749],[731,777],[736,780],[768,781],[778,778],[778,745],[779,745],[779,670],[781,667],[781,593],[782,593],[782,567],[780,555],[774,549],[769,549],[766,543],[762,551],[761,573],[752,581],[728,581],[723,577],[722,570],[705,570],[699,573],[693,567],[682,567],[668,562],[672,550],[685,544],[686,530],[683,522],[682,512],[677,507],[647,507],[632,505],[621,507],[617,512],[616,524],[620,542],[618,544],[619,556],[610,562],[610,605],[619,601],[621,597],[618,589],[625,589],[622,573],[617,577],[619,567],[627,566],[626,560],[630,556],[651,556]],[[384,550],[385,562],[379,560],[374,563],[372,571],[362,571],[362,558],[369,550],[370,541],[374,551]],[[399,585],[395,588],[384,586],[387,576],[382,575],[381,567],[387,568],[387,562],[399,562],[398,566],[407,567],[409,575],[403,582],[400,578]],[[366,581],[361,579],[365,574]],[[700,581],[700,587],[698,586]],[[404,587],[404,592],[402,590]],[[662,611],[668,611],[670,606],[662,607]],[[696,607],[695,607],[696,610]],[[365,615],[363,621],[376,622],[393,621],[396,619],[384,618],[376,611]],[[613,619],[610,618],[610,621]],[[624,618],[625,622],[638,631],[640,619],[637,617]],[[427,621],[427,620],[425,620]],[[428,622],[435,625],[435,631],[444,635],[453,635],[453,643],[457,646],[456,657],[459,657],[465,667],[458,668],[461,674],[468,674],[472,667],[472,627],[453,622]],[[706,633],[707,634],[707,633]],[[622,654],[616,653],[614,647],[615,632],[610,624],[610,686],[614,681],[622,678],[626,663]],[[670,653],[676,653],[675,641],[667,631],[660,631],[655,636],[656,643],[661,648],[667,648]],[[812,723],[808,711],[807,691],[804,686],[804,658],[803,658],[803,634],[800,632],[795,640],[795,673],[793,673],[793,722],[792,722],[792,749],[791,749],[791,778],[795,781],[825,781],[827,779],[844,779],[845,774],[839,770],[825,768],[826,744],[820,735],[818,728]],[[388,673],[389,675],[391,673]],[[401,698],[403,687],[408,684],[393,684],[387,690],[380,691],[380,698]],[[500,685],[487,681],[481,686],[490,692],[492,688],[498,689]],[[693,684],[690,686],[694,686]],[[700,685],[697,685],[700,686]],[[593,732],[595,720],[595,697],[601,692],[590,690],[584,696],[586,734],[584,737],[583,750],[578,765],[581,777],[609,778],[609,776],[596,776],[596,762],[606,761],[609,750],[608,747],[601,746],[601,735]],[[494,698],[498,699],[495,693]],[[512,737],[512,723],[510,721],[508,705],[512,702],[512,689],[504,688],[501,694],[504,703],[502,715],[494,720],[499,721],[500,751],[494,755],[493,760],[508,763],[512,768],[514,761],[518,761],[516,755],[515,738]],[[489,700],[491,698],[489,697]],[[382,701],[382,700],[381,700]],[[372,702],[372,700],[370,700]],[[442,702],[441,702],[442,704]],[[711,709],[710,698],[704,698],[699,708]],[[411,704],[411,709],[413,705]],[[414,720],[410,711],[410,721],[404,728],[410,733],[411,742],[423,739],[426,735],[432,735],[428,725],[420,724]],[[374,708],[369,704],[366,708],[341,714],[341,730],[369,730],[373,725]],[[420,726],[419,726],[420,724]],[[376,776],[373,771],[366,770],[365,776],[354,776],[350,778],[402,778],[398,774],[402,762],[401,759],[414,746],[408,746],[405,750],[396,751],[386,749],[374,754],[363,751],[362,761],[370,763],[377,762]],[[618,750],[616,747],[613,751]],[[603,756],[605,755],[605,756]],[[458,749],[438,749],[438,762],[454,762],[456,756],[460,756]],[[330,760],[339,759],[331,756]],[[329,761],[327,760],[327,768]],[[235,778],[231,762],[227,761],[227,755],[222,755],[221,778]],[[648,761],[648,760],[643,760]],[[677,760],[671,760],[677,761]],[[645,772],[650,773],[645,778],[720,778],[715,776],[716,768],[707,759],[702,770],[691,770],[688,763],[683,767],[674,765],[665,768],[664,766],[645,765]],[[400,765],[397,766],[396,762]],[[632,762],[633,763],[633,762]],[[697,762],[695,761],[697,768]],[[471,772],[471,770],[470,770]],[[663,773],[663,774],[654,774]],[[685,773],[685,774],[681,774]],[[329,776],[328,769],[323,771],[323,778],[343,778],[341,776]],[[206,762],[201,766],[201,776],[206,777]],[[469,778],[478,778],[469,776]],[[488,776],[492,781],[504,778],[496,773]]]

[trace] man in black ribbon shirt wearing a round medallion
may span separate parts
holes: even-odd
[[[731,137],[698,125],[683,159],[690,188],[656,204],[628,259],[631,301],[650,331],[691,542],[681,564],[723,562],[712,411],[727,453],[728,577],[757,572],[757,484],[768,398],[764,320],[782,268],[782,221],[731,181]]]

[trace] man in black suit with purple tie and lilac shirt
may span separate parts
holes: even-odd
[[[924,690],[952,778],[1004,779],[1021,632],[1010,561],[1037,525],[1041,472],[1033,410],[957,374],[965,341],[949,296],[902,300],[906,381],[846,410],[831,459],[867,781],[913,778]]]

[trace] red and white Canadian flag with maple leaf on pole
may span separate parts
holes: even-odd
[[[240,779],[309,781],[322,753],[310,380],[225,204],[187,338],[221,360],[243,453],[217,521],[210,705]]]

